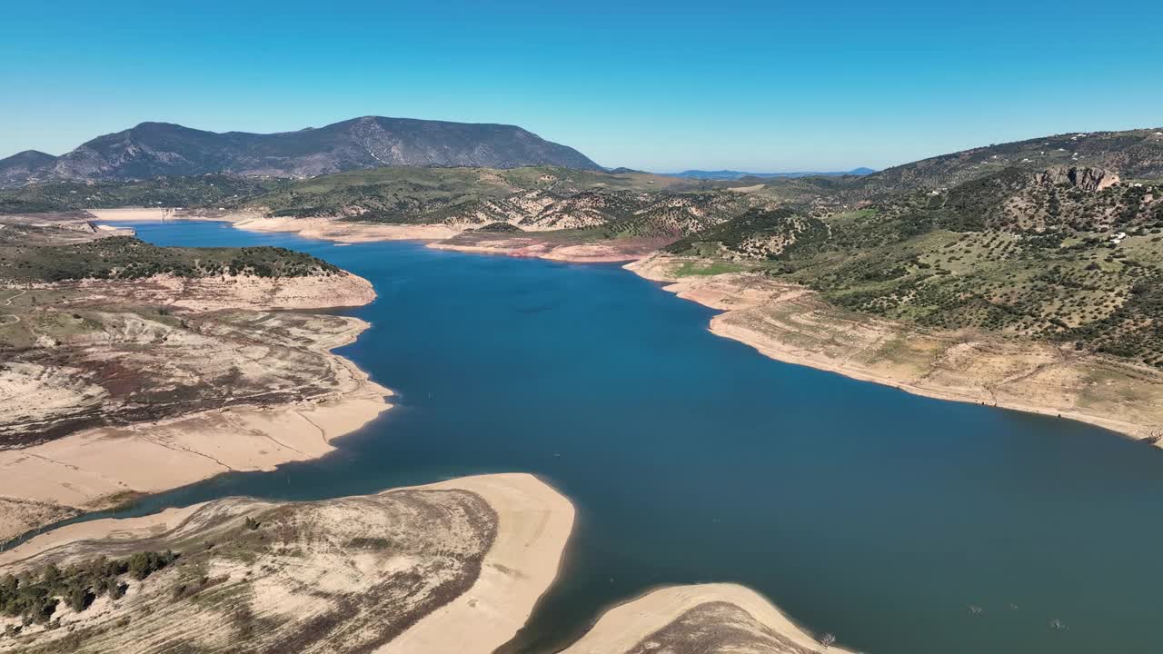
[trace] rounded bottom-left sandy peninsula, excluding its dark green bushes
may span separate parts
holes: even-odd
[[[516,633],[557,576],[573,507],[530,475],[313,503],[226,498],[53,529],[0,554],[15,573],[172,550],[121,597],[65,603],[0,652],[458,652]],[[19,625],[2,619],[6,625]],[[56,625],[52,620],[58,620]],[[48,627],[60,628],[48,628]]]

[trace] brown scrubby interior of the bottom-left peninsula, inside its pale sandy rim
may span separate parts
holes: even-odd
[[[0,652],[371,652],[468,591],[497,533],[492,506],[456,489],[220,499],[170,531],[17,561]]]

